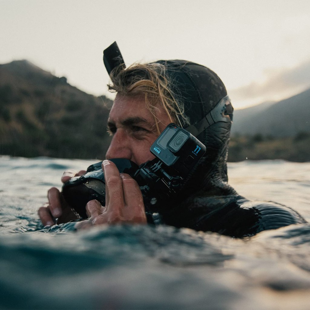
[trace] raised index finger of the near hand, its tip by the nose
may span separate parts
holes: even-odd
[[[104,160],[102,162],[105,179],[105,206],[107,209],[122,208],[124,206],[124,195],[122,179],[113,162]]]

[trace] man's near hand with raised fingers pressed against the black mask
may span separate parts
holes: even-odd
[[[89,228],[102,224],[146,224],[146,215],[142,193],[137,182],[131,176],[119,173],[113,162],[102,163],[105,178],[105,206],[97,200],[86,205],[88,220],[78,222],[76,228]]]

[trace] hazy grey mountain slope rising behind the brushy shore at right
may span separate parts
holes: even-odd
[[[232,136],[292,137],[310,132],[310,89],[279,102],[235,110]]]

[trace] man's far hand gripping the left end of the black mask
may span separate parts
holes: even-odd
[[[65,183],[74,176],[84,175],[85,170],[76,173],[74,170],[66,170],[61,177],[61,182]],[[57,224],[67,223],[71,220],[78,219],[71,207],[66,203],[60,191],[52,187],[47,192],[48,202],[38,210],[38,215],[44,226],[52,226],[55,224],[55,219],[58,218]]]

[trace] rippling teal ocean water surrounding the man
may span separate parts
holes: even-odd
[[[47,190],[94,162],[0,157],[0,309],[309,309],[309,224],[246,240],[169,226],[43,228]],[[310,222],[310,163],[229,163],[228,175],[241,195]]]

